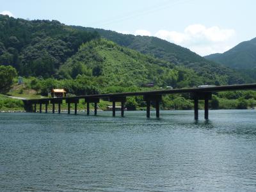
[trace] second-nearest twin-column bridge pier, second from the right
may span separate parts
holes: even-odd
[[[147,104],[147,118],[150,118],[150,103],[154,102],[156,108],[156,117],[160,116],[159,102],[162,100],[162,95],[144,95],[143,100]]]

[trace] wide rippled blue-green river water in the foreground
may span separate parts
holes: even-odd
[[[256,110],[0,113],[0,191],[256,191]]]

